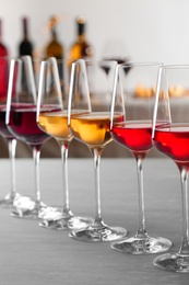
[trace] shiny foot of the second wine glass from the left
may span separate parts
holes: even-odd
[[[38,219],[39,210],[46,205],[43,202],[33,201],[31,197],[22,196],[13,203],[15,209],[11,216],[16,218]]]

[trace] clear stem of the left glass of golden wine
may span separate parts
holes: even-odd
[[[70,210],[69,205],[69,185],[68,185],[68,148],[69,145],[64,141],[59,140],[59,146],[61,150],[61,159],[62,159],[62,175],[63,175],[63,212],[68,213]]]

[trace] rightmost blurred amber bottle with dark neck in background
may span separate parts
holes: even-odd
[[[72,61],[80,58],[92,58],[94,56],[93,46],[87,42],[85,35],[86,21],[83,15],[76,19],[76,39],[71,45],[68,55],[68,66],[71,67]]]

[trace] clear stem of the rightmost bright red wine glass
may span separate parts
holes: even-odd
[[[179,254],[189,254],[189,228],[188,228],[188,171],[180,169],[181,203],[182,203],[182,242]]]

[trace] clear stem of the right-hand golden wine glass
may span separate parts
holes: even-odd
[[[95,220],[94,225],[99,226],[102,225],[102,214],[101,214],[101,189],[99,189],[99,162],[101,162],[101,155],[102,149],[91,149],[93,158],[94,158],[94,175],[95,175]]]

